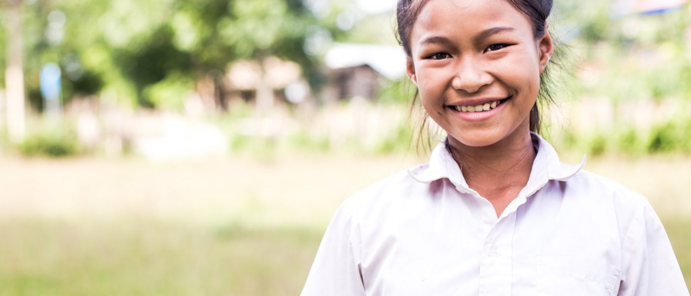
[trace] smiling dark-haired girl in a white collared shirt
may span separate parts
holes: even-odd
[[[446,131],[343,202],[303,295],[689,295],[647,200],[539,130],[550,0],[399,0],[408,77]]]

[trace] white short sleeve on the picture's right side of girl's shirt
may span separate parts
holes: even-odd
[[[650,204],[635,215],[623,241],[622,255],[618,295],[689,295],[670,239]]]

